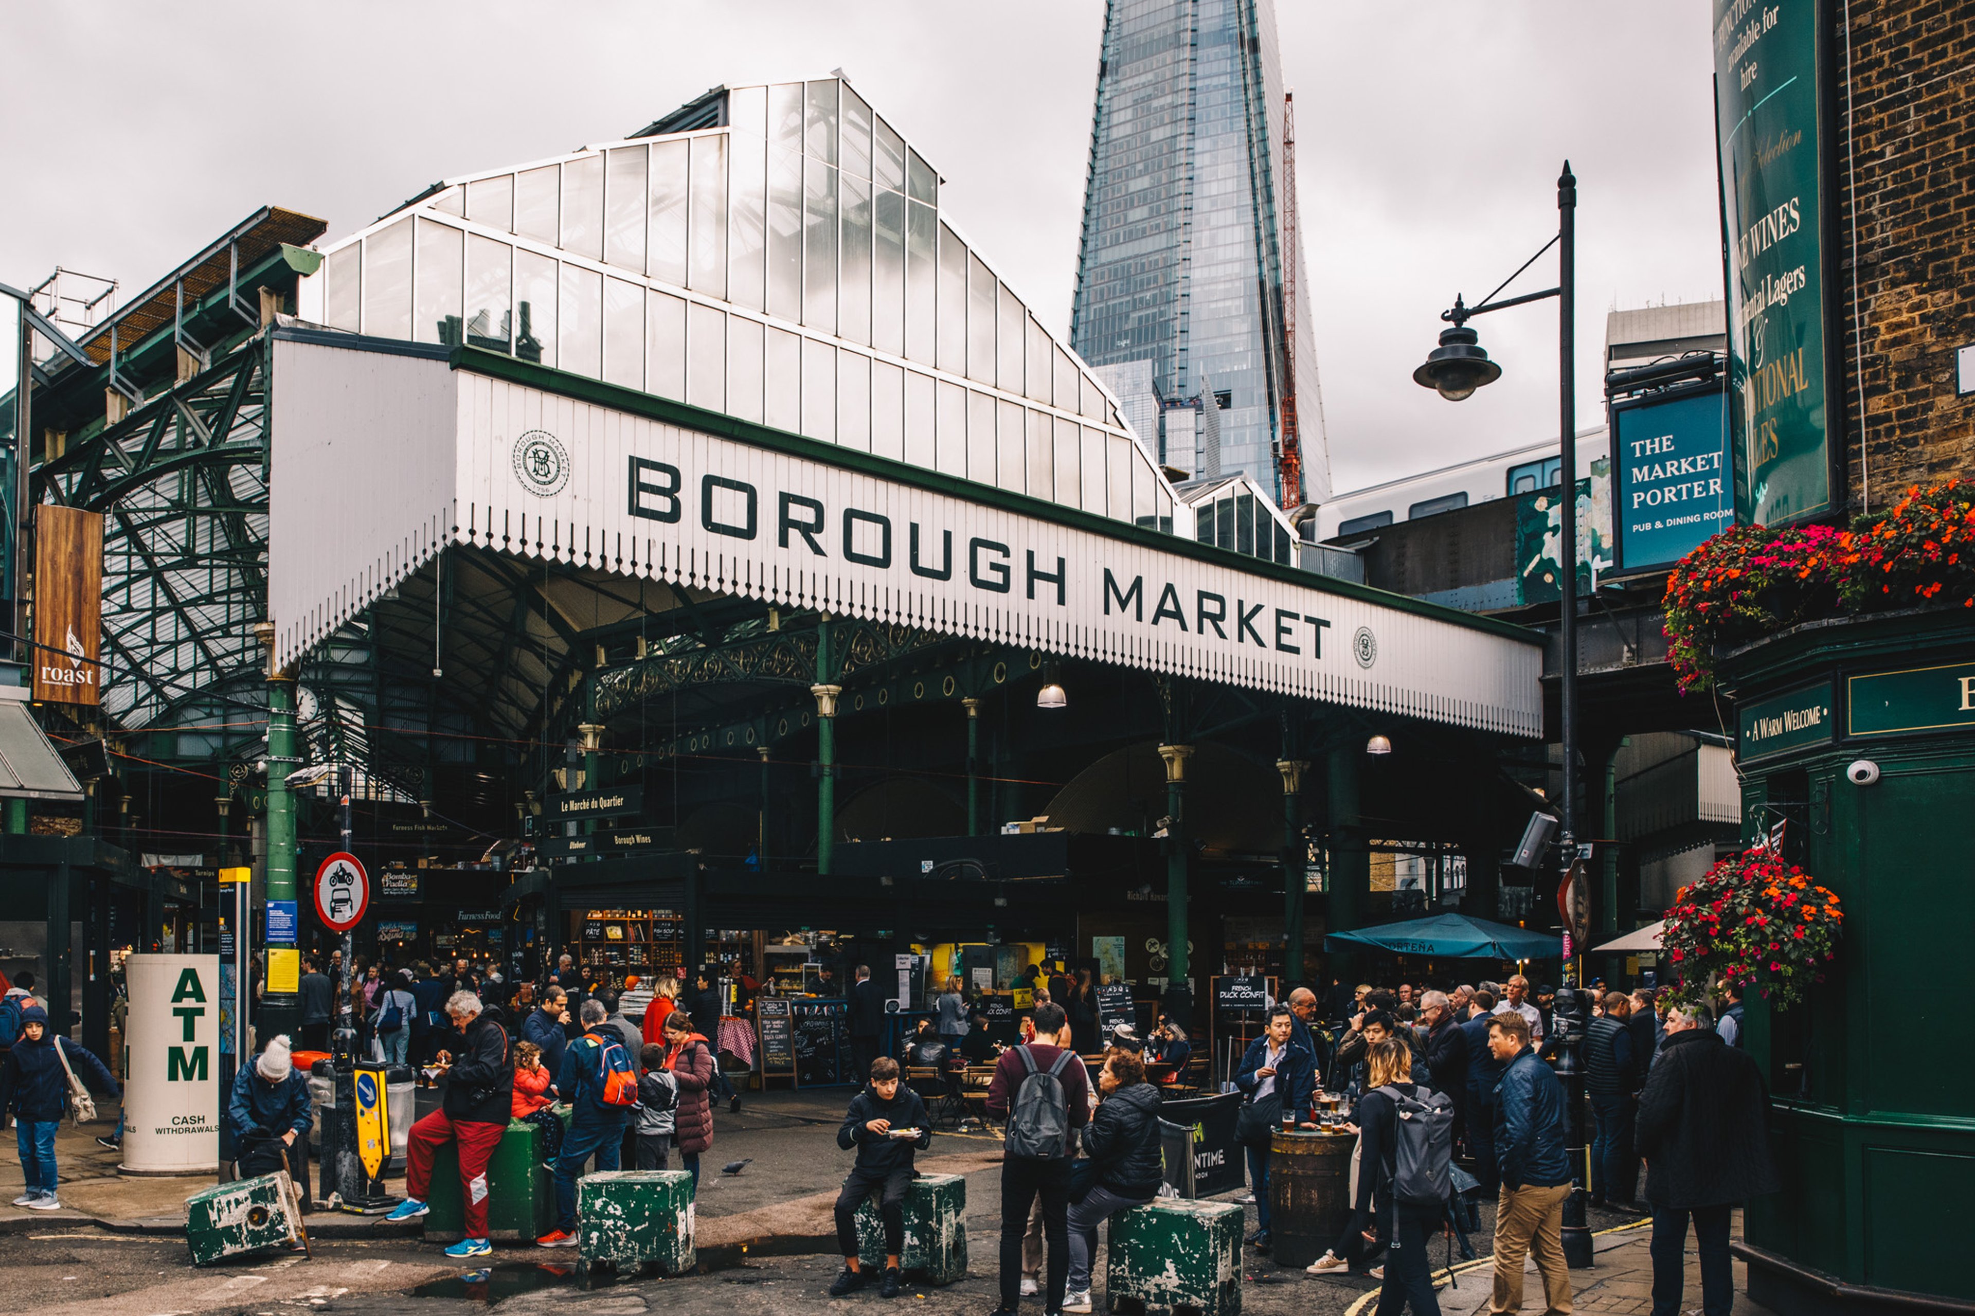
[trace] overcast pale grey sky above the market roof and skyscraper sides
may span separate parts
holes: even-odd
[[[618,138],[717,83],[843,67],[1068,326],[1100,0],[53,4],[0,12],[0,281],[136,292],[261,204],[328,237],[425,184]],[[1278,6],[1333,486],[1556,433],[1554,302],[1475,322],[1501,383],[1412,383],[1578,209],[1578,423],[1612,306],[1720,296],[1706,0]],[[1544,259],[1521,288],[1548,287]]]

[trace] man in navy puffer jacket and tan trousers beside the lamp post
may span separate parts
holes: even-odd
[[[1487,1045],[1503,1063],[1495,1083],[1495,1164],[1501,1193],[1495,1203],[1495,1294],[1489,1312],[1523,1310],[1523,1261],[1535,1249],[1542,1273],[1544,1310],[1570,1310],[1570,1271],[1564,1263],[1564,1199],[1570,1197],[1570,1158],[1564,1154],[1564,1085],[1529,1049],[1529,1020],[1515,1012],[1489,1016]]]

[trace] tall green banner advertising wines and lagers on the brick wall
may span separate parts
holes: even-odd
[[[1831,508],[1819,0],[1714,0],[1736,518]]]

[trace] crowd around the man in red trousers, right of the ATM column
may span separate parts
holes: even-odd
[[[235,1077],[227,1116],[241,1172],[286,1166],[306,1209],[314,1112],[294,1051],[332,1041],[340,954],[304,960],[304,968],[302,1045],[269,1037]],[[741,1105],[709,1039],[725,974],[707,964],[650,986],[628,978],[618,990],[587,980],[567,954],[541,980],[512,980],[498,964],[468,958],[395,972],[356,964],[348,992],[357,1053],[411,1063],[442,1087],[438,1110],[411,1126],[405,1201],[389,1219],[427,1215],[433,1166],[450,1144],[466,1237],[446,1255],[488,1255],[486,1172],[510,1120],[535,1124],[555,1176],[555,1227],[537,1239],[541,1247],[577,1245],[577,1180],[589,1166],[666,1170],[677,1154],[697,1195],[699,1158],[713,1146],[713,1103]]]

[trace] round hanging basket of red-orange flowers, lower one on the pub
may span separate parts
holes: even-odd
[[[1700,1000],[1708,978],[1718,978],[1760,992],[1772,1010],[1789,1010],[1811,982],[1823,982],[1843,927],[1829,887],[1768,850],[1748,850],[1681,887],[1659,948],[1679,972],[1679,1002]]]

